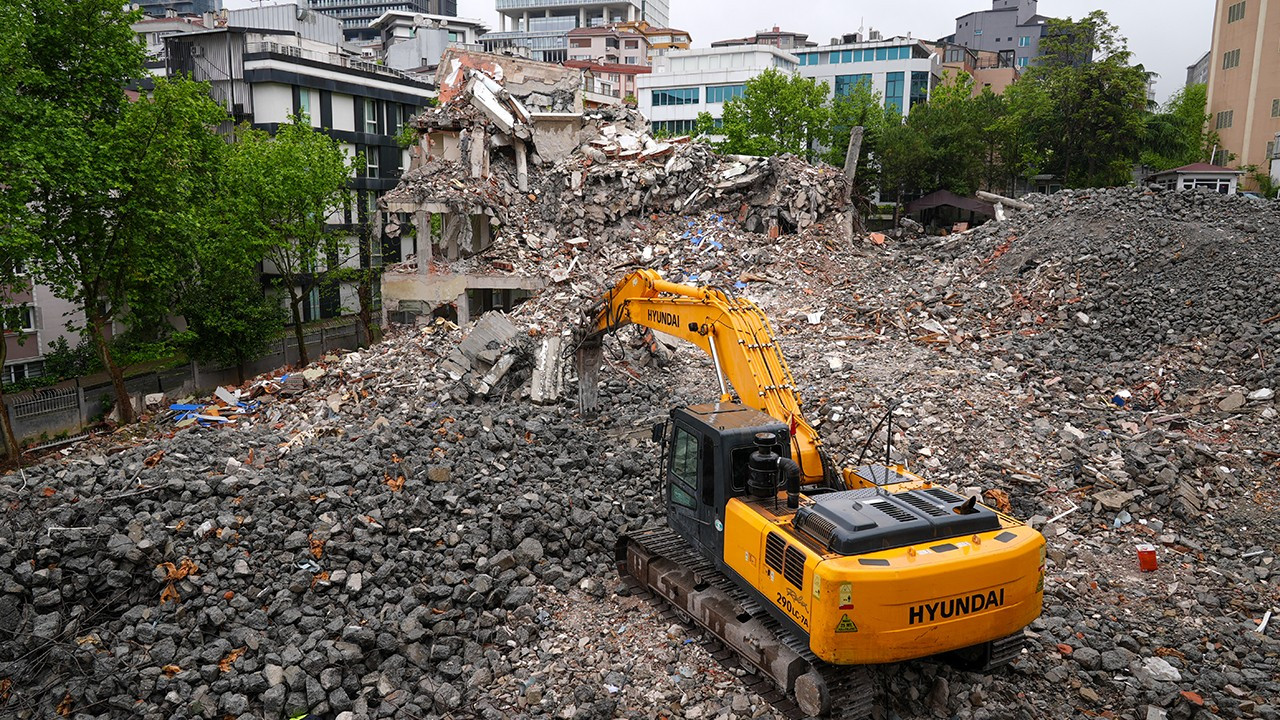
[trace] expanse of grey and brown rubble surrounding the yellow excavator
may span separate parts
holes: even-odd
[[[888,433],[892,460],[1044,532],[1021,659],[879,669],[883,717],[1280,717],[1275,210],[1033,200],[947,238],[659,217],[585,246],[509,233],[466,263],[567,273],[513,313],[532,336],[634,265],[741,283],[836,457],[896,405],[876,454]],[[465,332],[326,357],[236,427],[0,477],[0,715],[772,717],[612,568],[617,534],[662,512],[649,424],[714,395],[709,360],[658,366],[618,333],[604,411],[581,418],[572,377],[558,405],[476,395],[444,363]]]

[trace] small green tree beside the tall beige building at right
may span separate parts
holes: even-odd
[[[1158,173],[1207,160],[1217,143],[1217,133],[1208,129],[1207,105],[1206,86],[1189,85],[1148,115],[1142,164]]]

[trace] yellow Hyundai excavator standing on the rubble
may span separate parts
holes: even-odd
[[[627,324],[710,355],[721,396],[654,427],[667,518],[618,539],[618,573],[772,680],[778,710],[861,720],[868,665],[1021,652],[1043,602],[1038,532],[902,465],[837,471],[767,318],[727,288],[636,270],[607,291],[577,337],[585,411],[603,338]]]

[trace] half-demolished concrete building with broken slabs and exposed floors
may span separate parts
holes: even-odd
[[[379,202],[384,233],[401,241],[383,279],[388,316],[511,310],[568,281],[575,252],[653,232],[658,218],[716,214],[778,238],[841,227],[851,211],[836,168],[719,155],[654,137],[627,108],[584,110],[575,68],[449,50],[436,82],[440,105],[412,120],[411,165]]]

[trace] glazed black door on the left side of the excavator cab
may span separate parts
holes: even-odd
[[[666,484],[667,523],[690,544],[718,560],[722,537],[716,527],[716,447],[710,437],[675,424]]]

